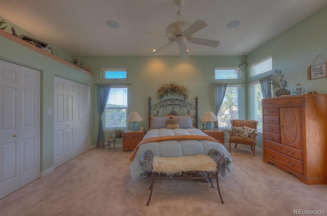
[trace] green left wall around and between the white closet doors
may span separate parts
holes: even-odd
[[[41,71],[41,171],[54,165],[54,77],[91,86],[93,77],[44,56],[5,37],[0,37],[0,59]]]

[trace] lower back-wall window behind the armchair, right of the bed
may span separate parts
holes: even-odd
[[[242,104],[241,85],[228,84],[218,117],[219,128],[230,128],[230,119],[240,119]]]

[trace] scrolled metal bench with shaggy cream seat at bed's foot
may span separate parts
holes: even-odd
[[[156,157],[150,150],[146,150],[141,165],[145,166],[145,160],[149,161],[152,168],[152,180],[149,188],[151,191],[147,205],[149,205],[151,199],[154,180],[172,179],[208,179],[213,188],[212,179],[216,179],[219,197],[221,203],[224,203],[219,189],[218,165],[225,162],[229,163],[229,160],[217,150],[210,150],[208,156],[195,155],[170,158]]]

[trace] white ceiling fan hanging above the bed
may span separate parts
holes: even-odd
[[[200,31],[204,27],[207,26],[205,21],[198,19],[192,25],[190,22],[184,21],[183,12],[180,10],[180,7],[184,4],[185,0],[174,0],[175,4],[178,5],[179,10],[177,12],[177,21],[171,23],[166,28],[167,34],[148,32],[147,35],[168,37],[169,42],[165,45],[160,46],[158,49],[153,50],[151,54],[156,54],[161,50],[164,50],[166,47],[178,43],[179,53],[182,59],[187,59],[188,50],[186,49],[186,41],[190,43],[196,43],[205,46],[217,47],[219,45],[219,41],[217,40],[209,40],[204,38],[193,37],[193,34]]]

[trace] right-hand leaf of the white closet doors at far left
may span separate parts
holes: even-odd
[[[19,186],[40,177],[40,72],[20,66]]]

